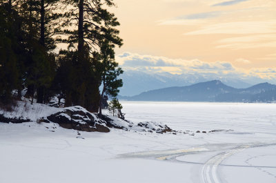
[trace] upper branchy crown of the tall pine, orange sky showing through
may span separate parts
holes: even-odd
[[[92,53],[99,50],[99,43],[103,39],[122,45],[119,30],[116,29],[120,25],[117,18],[103,8],[115,6],[113,0],[68,0],[66,3],[73,8],[64,14],[67,17],[65,25],[75,26],[77,30],[65,29],[64,33],[69,36],[65,41],[70,44],[70,48],[77,48],[79,57],[84,51],[84,45]]]

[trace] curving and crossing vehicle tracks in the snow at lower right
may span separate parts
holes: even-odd
[[[218,151],[219,149],[210,148],[210,144],[206,146],[201,146],[197,148],[188,148],[188,149],[179,149],[179,150],[165,150],[165,151],[146,151],[140,153],[128,153],[122,154],[120,157],[136,157],[136,158],[154,158],[155,160],[163,160],[163,161],[172,161],[179,162],[184,164],[200,164],[203,165],[201,168],[201,182],[203,183],[221,183],[219,179],[219,175],[217,175],[218,166],[236,166],[236,167],[246,167],[246,168],[276,168],[276,166],[247,166],[247,165],[238,165],[238,164],[221,164],[226,158],[234,155],[235,153],[239,153],[244,151],[246,148],[255,148],[262,146],[275,146],[276,143],[273,144],[239,144],[235,148],[225,148],[224,153],[219,153],[213,157],[211,157],[207,162],[186,162],[177,160],[177,157],[181,157],[183,155],[193,154],[193,153],[204,153],[204,151]],[[221,149],[220,149],[221,151]]]

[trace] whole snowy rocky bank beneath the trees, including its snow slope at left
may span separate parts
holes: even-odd
[[[30,102],[17,102],[11,111],[0,109],[0,122],[4,123],[55,123],[59,126],[77,131],[87,132],[110,132],[110,128],[124,131],[137,131],[148,133],[177,133],[168,126],[157,122],[128,122],[118,117],[103,114],[90,113],[81,106],[67,108],[55,108],[44,104],[33,104]]]

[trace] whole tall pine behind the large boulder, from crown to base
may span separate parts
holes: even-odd
[[[114,6],[108,0],[72,0],[67,1],[75,9],[65,14],[68,17],[66,25],[77,27],[77,30],[66,29],[68,35],[65,40],[69,43],[69,49],[77,49],[77,61],[75,63],[75,73],[77,79],[72,83],[77,91],[71,95],[72,104],[85,106],[86,108],[97,111],[99,106],[99,84],[101,75],[97,65],[99,60],[92,57],[100,49],[99,44],[107,39],[112,44],[121,46],[119,31],[115,29],[119,22],[115,15],[104,9],[103,6]],[[78,11],[77,11],[78,10]],[[72,18],[72,17],[77,17]],[[67,102],[66,102],[67,103]]]

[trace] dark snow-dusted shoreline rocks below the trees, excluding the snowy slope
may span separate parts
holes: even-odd
[[[31,106],[34,110],[34,106]],[[43,108],[43,106],[41,106]],[[135,131],[135,132],[145,132],[145,133],[170,133],[177,134],[181,131],[172,131],[171,128],[164,124],[157,122],[139,122],[133,123],[128,122],[126,119],[117,119],[116,117],[110,117],[107,115],[101,115],[90,113],[85,108],[81,106],[72,106],[68,108],[59,108],[52,112],[48,117],[44,116],[38,119],[35,119],[35,122],[38,124],[41,123],[54,123],[59,124],[62,128],[74,129],[77,131],[77,135],[81,135],[79,131],[86,132],[110,132],[110,128],[117,128],[124,131]],[[8,116],[8,117],[6,117]],[[0,122],[5,123],[23,123],[31,122],[30,119],[26,119],[28,116],[23,118],[14,118],[12,115],[0,114]],[[34,119],[33,119],[34,120]],[[55,132],[56,127],[52,126],[51,128],[47,127],[49,131]]]

